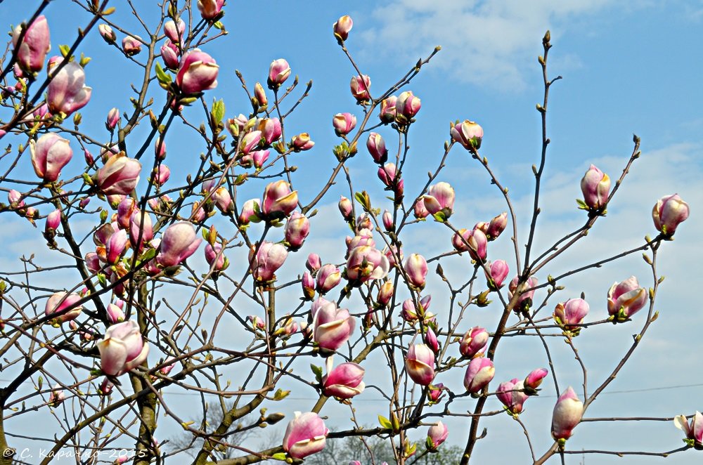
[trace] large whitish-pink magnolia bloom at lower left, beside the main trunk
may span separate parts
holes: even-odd
[[[144,343],[139,325],[130,320],[108,327],[105,337],[96,344],[103,373],[120,376],[146,361],[149,345]]]

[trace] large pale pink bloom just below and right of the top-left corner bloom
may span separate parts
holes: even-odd
[[[85,86],[86,74],[75,61],[66,63],[59,72],[49,72],[51,81],[46,94],[46,105],[53,114],[71,114],[90,100],[93,89]]]

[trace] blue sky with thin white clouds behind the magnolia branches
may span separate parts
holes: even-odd
[[[542,99],[542,84],[536,57],[541,54],[541,38],[549,29],[554,45],[549,57],[550,75],[559,74],[564,79],[550,93],[548,136],[552,143],[537,244],[546,247],[555,237],[583,222],[583,212],[576,209],[574,199],[580,196],[579,180],[589,164],[595,163],[611,178],[617,178],[632,150],[633,133],[642,139],[643,152],[616,202],[609,207],[607,218],[596,224],[581,247],[554,263],[550,273],[557,275],[577,263],[604,258],[639,244],[645,234],[654,233],[650,211],[663,195],[678,192],[689,202],[692,211],[690,219],[676,233],[676,241],[662,247],[659,273],[667,279],[657,300],[657,309],[661,310],[659,320],[650,328],[633,360],[611,384],[612,393],[606,391],[593,404],[588,416],[673,417],[703,409],[703,375],[698,357],[703,315],[698,310],[697,295],[703,275],[702,250],[697,240],[703,233],[703,221],[697,215],[703,201],[700,189],[703,93],[699,89],[703,74],[702,1],[394,0],[351,4],[274,1],[266,11],[262,8],[249,11],[248,6],[239,2],[229,3],[223,20],[228,36],[204,47],[220,65],[219,86],[206,94],[206,100],[224,98],[228,117],[247,113],[246,97],[233,71],[240,70],[253,85],[257,80],[265,81],[269,63],[276,58],[286,58],[301,82],[312,79],[311,96],[295,112],[286,129],[289,135],[308,131],[316,142],[313,150],[295,160],[300,166],[296,187],[302,196],[316,192],[323,182],[321,179],[333,166],[331,148],[337,143],[331,126],[333,114],[347,111],[361,114],[349,94],[353,69],[331,34],[332,23],[340,15],[349,14],[354,18],[354,29],[347,46],[361,70],[370,74],[375,95],[434,46],[442,46],[442,51],[407,88],[422,99],[423,107],[411,131],[406,191],[413,181],[417,184],[436,166],[444,140],[449,138],[449,122],[473,119],[484,127],[482,155],[489,158],[498,177],[510,188],[517,210],[527,212],[533,180],[530,166],[538,163],[540,145],[540,121],[534,105]],[[18,6],[20,2],[0,5],[3,18],[14,24],[25,19],[30,10],[25,2],[21,9]],[[115,6],[116,17],[134,27],[135,34],[143,34],[129,17],[126,2],[115,2]],[[76,27],[86,22],[85,15],[68,2],[52,2],[46,15],[52,33],[52,53],[56,53],[58,44],[69,42],[62,37],[73,37]],[[153,11],[146,8],[145,15],[148,18]],[[91,40],[79,49],[93,57],[86,69],[86,84],[93,87],[93,100],[84,110],[85,129],[104,138],[103,121],[108,110],[129,108],[127,92],[136,70],[125,65],[116,51],[98,37],[96,30],[91,34]],[[122,34],[118,34],[118,41],[121,38]],[[200,117],[195,110],[188,111],[193,119]],[[167,136],[167,163],[176,179],[185,177],[202,150],[192,138],[182,134],[186,130],[176,123]],[[135,142],[131,150],[139,145],[138,140]],[[377,195],[381,192],[375,168],[364,148],[349,166],[357,190],[369,185],[371,192]],[[27,170],[31,173],[28,166]],[[505,209],[498,192],[463,150],[453,150],[439,181],[447,181],[456,189],[456,206],[460,211],[452,221],[459,227],[470,228]],[[262,190],[263,183],[256,185],[252,196],[258,195],[254,191]],[[342,186],[333,191],[344,192]],[[327,214],[322,218],[335,218],[337,198],[330,195],[328,202],[321,204],[321,212]],[[338,218],[335,221],[313,223],[307,246],[291,259],[292,263],[304,260],[314,250],[311,245],[314,240],[333,260],[339,254],[340,234],[344,235],[344,225]],[[528,221],[524,213],[519,218],[522,241]],[[29,232],[25,223],[16,221],[4,228],[3,240],[12,247],[0,251],[0,256],[8,269],[19,266],[17,250],[43,247],[42,242],[37,242],[38,232]],[[33,235],[32,240],[27,239],[27,234]],[[446,244],[429,243],[426,238],[423,228],[409,230],[406,256],[415,249],[427,250],[427,254],[446,249]],[[510,251],[509,238],[502,237],[491,247],[493,258],[505,258]],[[461,265],[452,263],[450,272],[461,273]],[[511,268],[514,270],[514,266]],[[290,273],[295,275],[297,270],[292,268]],[[568,280],[564,283],[567,285],[564,299],[558,301],[586,292],[591,315],[600,318],[612,282],[633,274],[640,277],[643,285],[652,285],[645,264],[636,254]],[[439,287],[439,282],[431,280],[430,285]],[[432,310],[440,313],[441,294],[437,292]],[[491,327],[494,317],[477,311],[469,323]],[[590,386],[595,386],[595,381],[607,376],[617,364],[631,341],[631,334],[643,322],[644,315],[638,317],[627,325],[590,329],[577,339],[581,354],[592,370]],[[552,346],[557,353],[563,352],[560,342],[555,341]],[[521,377],[530,369],[545,365],[543,358],[534,341],[512,347],[506,343],[496,359],[497,365],[501,362],[504,365],[498,365],[494,384],[497,386],[501,381]],[[564,352],[557,359],[561,386],[579,385],[580,372],[572,357]],[[460,390],[460,379],[438,381]],[[655,388],[662,389],[647,391]],[[302,393],[299,398],[311,399],[312,395]],[[537,452],[550,443],[548,417],[555,400],[552,395],[553,388],[547,386],[545,395],[527,402],[527,411],[522,415],[535,432]],[[378,402],[374,399],[375,392],[369,390],[354,402],[360,412],[368,415],[368,421],[374,421],[375,414],[382,413],[375,411]],[[472,402],[460,405],[470,409]],[[287,413],[293,410],[292,406],[279,408]],[[323,413],[330,416],[330,424],[346,427],[348,410],[330,409]],[[484,426],[489,428],[489,435],[477,446],[477,463],[495,461],[496,454],[501,454],[501,462],[524,459],[527,446],[522,432],[507,416],[488,419]],[[450,428],[449,441],[463,444],[467,427],[453,421]],[[417,439],[422,435],[424,431]],[[663,452],[681,446],[680,437],[681,432],[669,422],[581,424],[574,439],[569,441],[569,448]],[[515,446],[506,448],[506,441]],[[674,460],[693,464],[699,461],[699,454],[688,451]],[[567,463],[577,464],[580,460],[581,457],[568,457]],[[647,457],[626,460],[636,464],[661,461]],[[616,462],[621,463],[622,459],[586,457],[586,463]]]

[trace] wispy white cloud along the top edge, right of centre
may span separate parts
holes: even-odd
[[[525,64],[541,54],[540,39],[546,30],[556,37],[583,15],[611,6],[627,10],[642,5],[638,1],[617,6],[612,0],[395,0],[373,11],[363,39],[369,45],[383,44],[388,57],[406,60],[426,56],[441,45],[433,61],[451,77],[520,91],[525,86],[524,70],[530,69]],[[379,53],[380,48],[369,49]],[[562,65],[580,66],[576,56],[563,60]]]

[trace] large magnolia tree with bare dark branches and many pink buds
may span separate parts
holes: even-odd
[[[395,84],[374,89],[347,48],[352,18],[342,16],[329,38],[348,58],[339,71],[351,77],[349,89],[340,89],[351,91],[348,111],[296,121],[311,84],[303,89],[285,58],[268,73],[237,72],[250,104],[226,103],[233,90],[218,86],[225,70],[217,53],[228,40],[223,0],[122,4],[123,12],[107,0],[76,1],[72,8],[89,20],[75,37],[51,35],[48,3],[12,18],[17,25],[1,62],[0,212],[4,222],[19,216],[35,228],[25,237],[33,254],[22,256],[20,270],[0,273],[2,463],[13,456],[48,463],[66,451],[80,463],[170,456],[193,464],[299,463],[349,438],[366,446],[366,463],[382,460],[369,446],[379,441],[399,464],[430,463],[423,457],[449,447],[447,425],[460,424],[451,443],[466,464],[495,415],[520,425],[515,441],[526,438],[535,464],[608,453],[572,450],[569,438],[583,421],[607,420],[589,419],[588,409],[646,341],[658,316],[657,255],[689,208],[659,192],[643,242],[624,251],[612,244],[593,261],[550,274],[557,257],[589,247],[589,230],[607,222],[640,140],[617,179],[597,166],[586,171],[578,228],[564,237],[540,231],[548,93],[560,79],[548,73],[549,32],[539,57],[534,204],[518,212],[481,154],[484,131],[472,114],[451,123],[444,148],[427,157],[426,182],[404,182],[413,157],[408,138],[422,117],[413,79],[439,47]],[[111,70],[90,63],[82,53],[87,41],[105,42]],[[115,70],[138,73],[133,92],[103,91],[99,98],[114,107],[93,110],[98,92],[89,84]],[[103,119],[105,129],[86,129],[86,120]],[[309,133],[334,131],[337,145],[321,148],[307,128],[288,129],[300,124]],[[186,147],[200,157],[186,160]],[[307,151],[316,161],[306,165]],[[448,157],[484,171],[495,186],[485,195],[504,204],[494,218],[453,223],[468,199],[455,199],[443,181]],[[331,173],[318,169],[322,159]],[[297,171],[298,163],[314,176]],[[323,208],[330,204],[338,214]],[[347,237],[324,247],[306,242],[318,227],[345,223]],[[432,237],[426,250],[404,247],[418,234]],[[548,247],[538,247],[539,235]],[[501,241],[512,242],[503,248],[510,253],[497,256]],[[648,273],[603,283],[588,301],[563,285],[631,254],[643,254]],[[599,311],[589,314],[594,301]],[[472,324],[483,307],[491,324]],[[577,344],[589,328],[613,324],[633,328],[634,339],[594,379]],[[530,366],[494,364],[522,339],[543,349]],[[555,359],[564,353],[576,358],[580,384],[567,386],[560,376]],[[553,415],[528,428],[524,405],[541,390],[557,398]],[[369,393],[384,400],[373,412],[359,407]],[[503,408],[488,408],[496,398]],[[683,430],[683,447],[617,453],[703,448],[701,414],[675,413],[669,421]],[[277,423],[269,446],[242,442],[243,433]],[[21,449],[47,438],[41,456]]]

